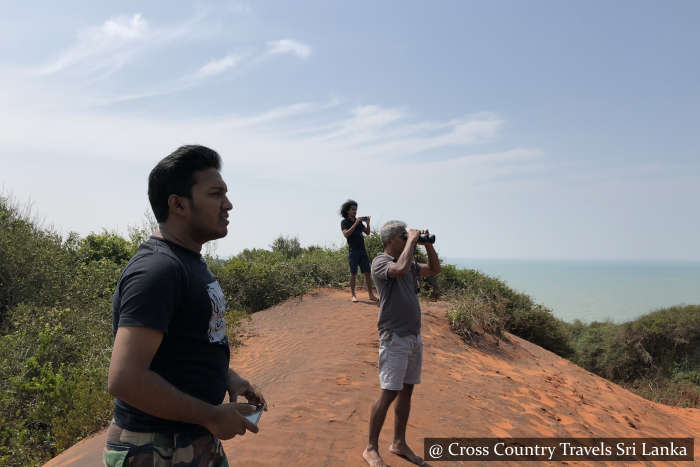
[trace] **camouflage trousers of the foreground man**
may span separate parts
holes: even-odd
[[[106,467],[228,467],[221,441],[209,433],[140,433],[114,422],[103,458]]]

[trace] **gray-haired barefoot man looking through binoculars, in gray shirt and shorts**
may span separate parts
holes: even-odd
[[[420,335],[421,312],[416,295],[418,276],[440,272],[440,262],[432,243],[422,243],[428,264],[413,261],[419,237],[427,230],[406,230],[401,221],[389,221],[380,232],[384,252],[372,261],[372,278],[379,292],[379,383],[381,393],[372,406],[369,419],[369,444],[362,457],[372,467],[386,464],[379,455],[379,432],[391,403],[394,407],[394,442],[389,450],[408,461],[423,465],[406,444],[406,425],[411,410],[413,385],[420,383],[423,340]]]

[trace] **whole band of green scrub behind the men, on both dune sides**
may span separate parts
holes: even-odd
[[[109,422],[112,293],[151,228],[133,228],[128,238],[108,231],[64,238],[0,198],[0,465],[39,465]],[[382,249],[377,233],[366,245],[370,257]],[[280,237],[269,250],[207,255],[227,298],[232,342],[247,314],[347,285],[347,254]],[[420,249],[417,258],[427,260]],[[699,405],[700,306],[624,324],[569,324],[474,270],[443,265],[421,289],[450,301],[453,329],[466,340],[509,331],[652,400]]]

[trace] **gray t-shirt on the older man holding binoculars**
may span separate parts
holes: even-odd
[[[420,332],[420,305],[416,295],[416,277],[420,266],[411,263],[408,273],[389,277],[387,271],[396,259],[379,253],[372,261],[372,279],[379,291],[379,332],[393,331],[399,336]]]

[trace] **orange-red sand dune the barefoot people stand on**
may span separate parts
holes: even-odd
[[[450,331],[444,303],[423,302],[422,308],[423,383],[414,392],[407,432],[409,445],[419,455],[423,438],[432,436],[693,437],[700,433],[700,410],[649,402],[510,334],[508,342],[500,345],[467,346]],[[231,367],[260,387],[270,409],[260,420],[258,434],[224,442],[231,465],[365,465],[361,454],[367,442],[369,408],[379,392],[376,319],[376,305],[351,303],[348,291],[329,289],[252,316],[244,326],[244,344],[232,354]],[[392,431],[390,411],[380,438],[385,461],[392,466],[412,465],[388,452]],[[47,465],[101,465],[103,443],[101,432]]]

